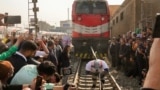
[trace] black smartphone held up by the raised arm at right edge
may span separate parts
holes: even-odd
[[[152,37],[160,38],[160,15],[156,16]]]

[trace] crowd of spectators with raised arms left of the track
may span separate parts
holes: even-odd
[[[0,90],[75,90],[76,87],[67,82],[68,75],[62,73],[71,66],[72,46],[62,42],[62,38],[57,37],[36,39],[33,34],[2,38]],[[57,84],[60,80],[62,83]]]

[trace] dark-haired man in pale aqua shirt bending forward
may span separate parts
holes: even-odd
[[[44,80],[47,81],[55,72],[55,66],[50,61],[44,61],[38,66],[25,65],[15,74],[11,81],[11,84],[30,84],[32,80],[36,78],[38,75],[42,76]]]

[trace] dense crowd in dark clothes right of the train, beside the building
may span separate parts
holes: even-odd
[[[143,85],[149,68],[149,53],[152,45],[152,29],[136,29],[124,35],[113,37],[110,41],[109,53],[112,67],[124,72],[128,77],[139,78]]]

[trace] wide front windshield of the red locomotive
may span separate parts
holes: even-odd
[[[106,14],[107,7],[106,2],[77,2],[76,3],[77,14]]]

